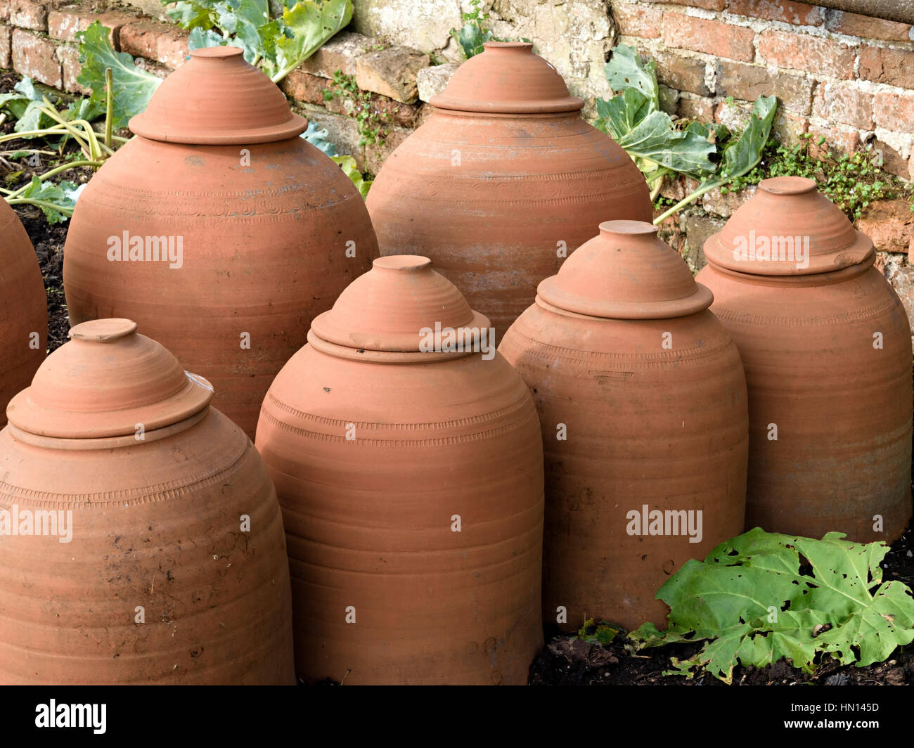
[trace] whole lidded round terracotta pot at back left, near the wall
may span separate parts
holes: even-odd
[[[377,242],[356,187],[297,137],[305,123],[282,92],[230,48],[192,55],[80,196],[64,286],[74,324],[137,320],[252,438],[273,376]],[[180,241],[180,266],[110,259],[137,237],[144,250]]]

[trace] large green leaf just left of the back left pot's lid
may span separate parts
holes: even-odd
[[[105,105],[105,69],[112,69],[112,126],[125,127],[130,118],[143,112],[162,81],[134,64],[126,52],[115,52],[109,31],[94,21],[76,35],[80,42],[82,71],[77,79],[92,91],[91,101]]]

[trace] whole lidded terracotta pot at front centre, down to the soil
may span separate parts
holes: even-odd
[[[302,678],[524,684],[542,646],[537,413],[494,347],[420,352],[436,322],[488,327],[426,258],[381,258],[263,403]]]

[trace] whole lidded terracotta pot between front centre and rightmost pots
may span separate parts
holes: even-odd
[[[665,627],[657,590],[743,528],[739,354],[707,311],[707,288],[655,232],[601,224],[499,347],[537,403],[544,619],[568,630],[586,618]]]

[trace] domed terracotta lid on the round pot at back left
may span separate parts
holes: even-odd
[[[196,145],[271,143],[304,132],[282,91],[249,65],[237,47],[192,49],[190,59],[162,81],[133,133]]]

